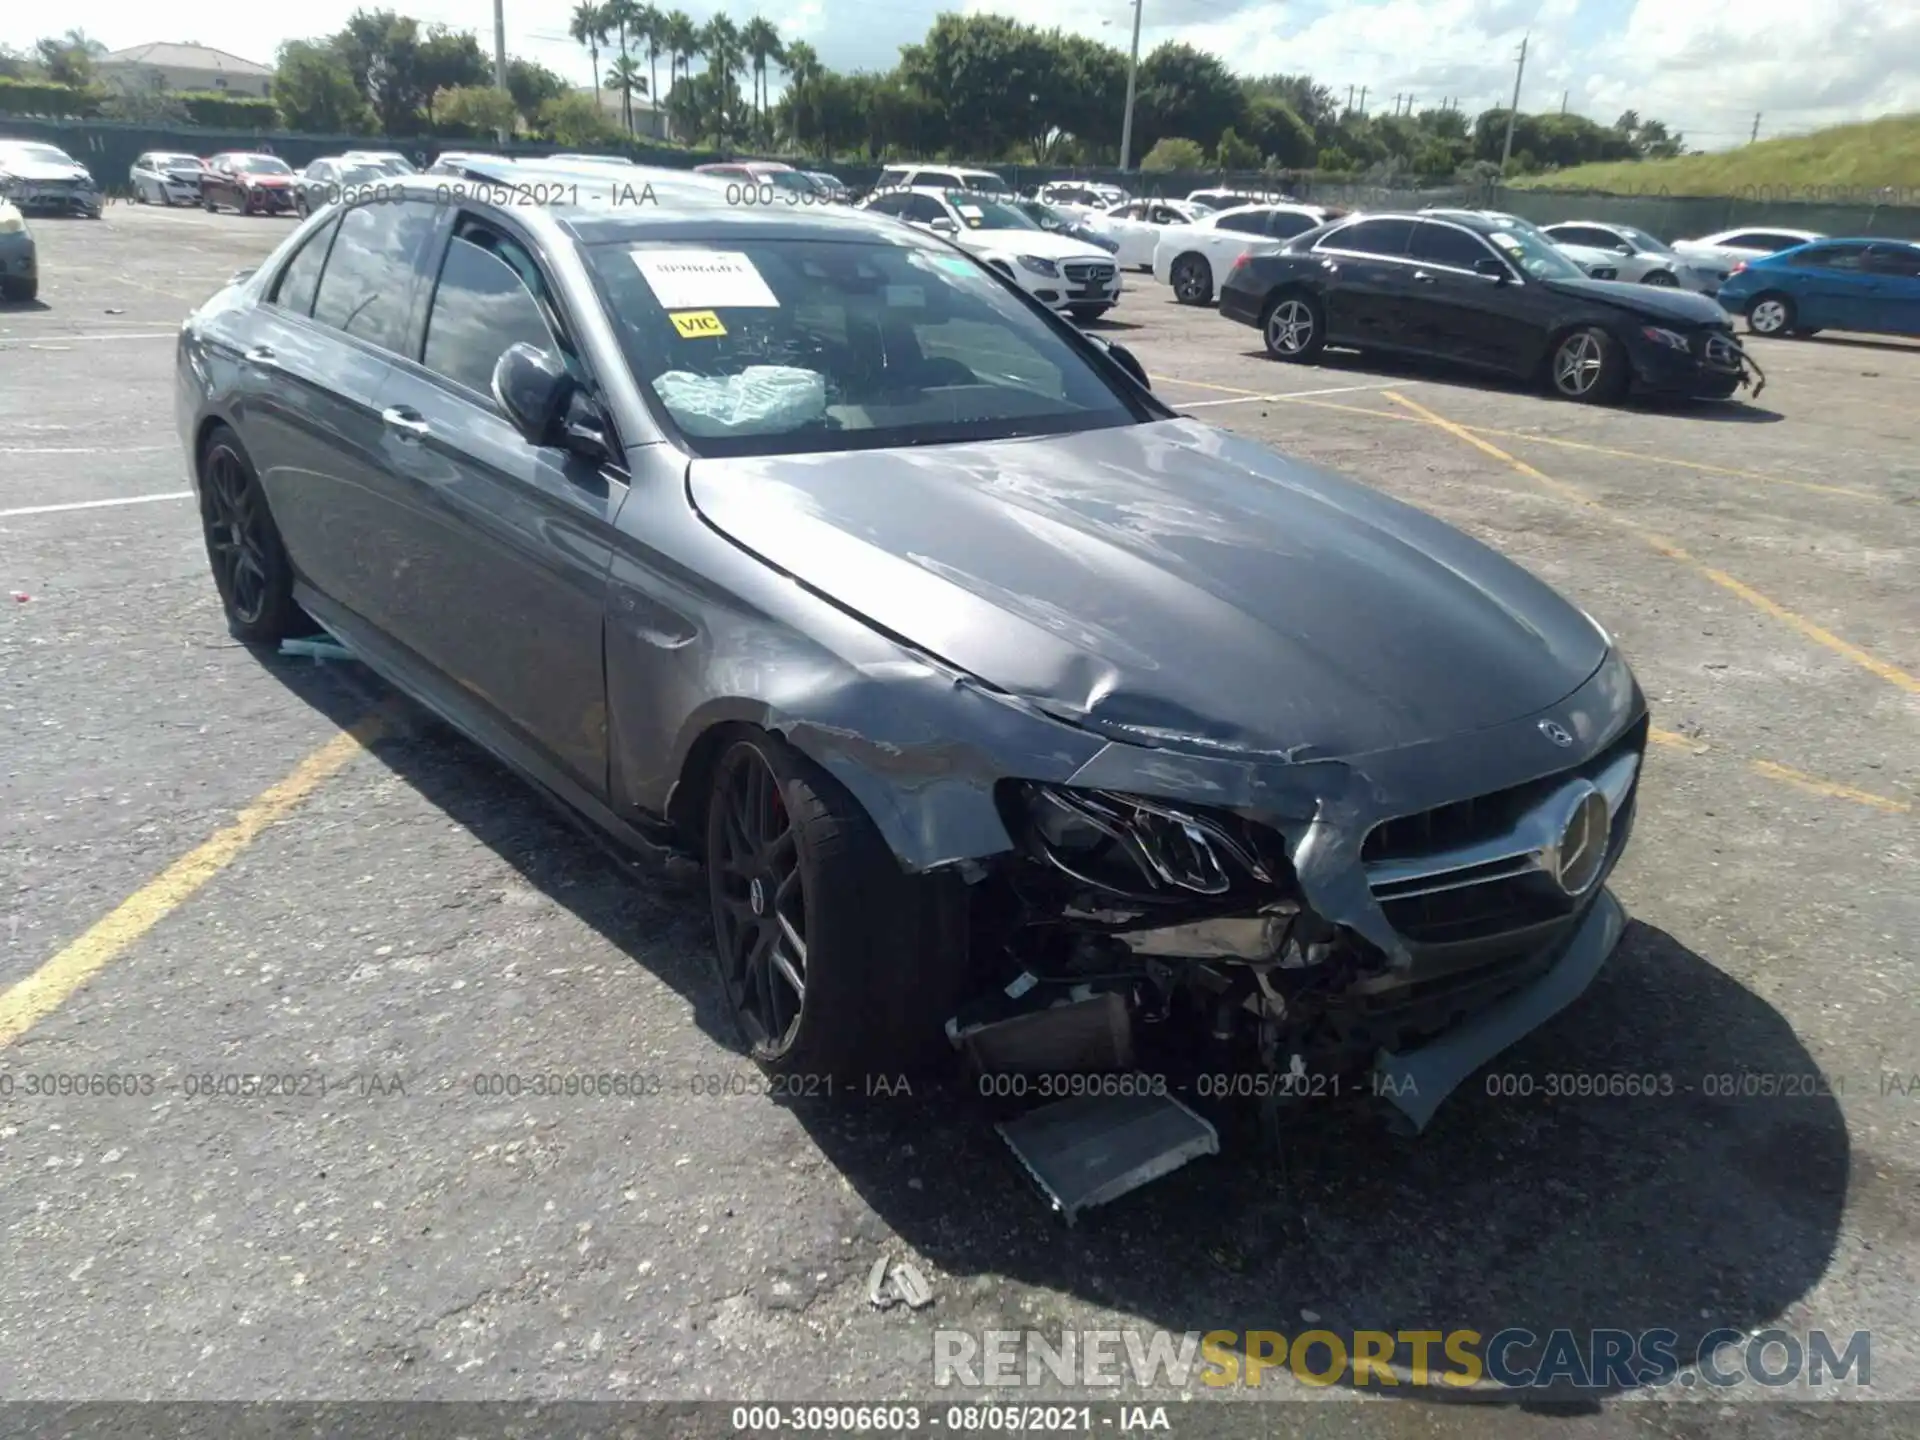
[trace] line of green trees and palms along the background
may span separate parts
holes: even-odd
[[[887,71],[835,71],[812,46],[783,42],[762,15],[695,23],[682,10],[584,0],[568,33],[586,52],[593,92],[530,60],[507,65],[507,94],[467,31],[361,10],[330,36],[280,46],[273,106],[311,132],[488,134],[497,129],[570,148],[660,138],[824,161],[952,159],[1106,167],[1119,161],[1127,56],[1060,29],[1002,15],[939,15]],[[84,38],[84,36],[81,36]],[[73,36],[15,58],[50,81],[86,83]],[[664,75],[662,75],[664,69]],[[0,54],[0,77],[8,60]],[[662,88],[664,81],[664,88]],[[776,90],[780,92],[776,98]],[[624,132],[624,134],[622,134]],[[1486,173],[1501,157],[1507,109],[1452,106],[1365,113],[1311,75],[1240,77],[1179,42],[1140,60],[1133,159],[1142,169],[1319,171],[1369,179]],[[1626,111],[1521,113],[1511,171],[1667,157],[1680,134]]]

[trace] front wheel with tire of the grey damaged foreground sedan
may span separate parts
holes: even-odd
[[[774,1075],[854,1079],[945,1050],[964,887],[908,876],[860,803],[780,735],[724,741],[707,889],[726,1008]]]

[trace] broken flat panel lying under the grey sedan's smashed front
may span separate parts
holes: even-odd
[[[1068,1225],[1188,1160],[1219,1154],[1219,1131],[1171,1094],[1075,1096],[998,1131]]]

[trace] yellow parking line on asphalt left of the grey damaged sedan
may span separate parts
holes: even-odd
[[[286,780],[259,793],[234,822],[217,829],[154,879],[136,889],[84,935],[0,993],[0,1046],[8,1046],[65,1004],[86,981],[109,966],[129,945],[173,914],[192,895],[230,866],[267,826],[284,820],[323,781],[371,745],[384,730],[382,716],[369,716],[313,751]]]

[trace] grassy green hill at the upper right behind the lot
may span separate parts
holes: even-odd
[[[1605,190],[1622,196],[1738,196],[1870,202],[1891,188],[1889,204],[1920,204],[1920,115],[1761,140],[1740,150],[1678,159],[1574,165],[1513,180],[1536,190]]]

